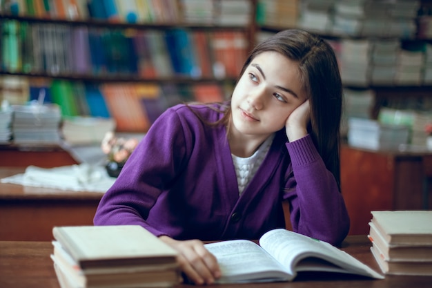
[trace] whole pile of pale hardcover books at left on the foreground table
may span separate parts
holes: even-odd
[[[61,288],[173,287],[177,252],[138,225],[54,227]]]

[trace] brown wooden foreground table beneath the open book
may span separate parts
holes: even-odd
[[[358,260],[380,271],[369,250],[371,243],[366,236],[348,236],[342,249]],[[50,242],[0,242],[0,287],[4,288],[59,288],[52,260]],[[275,282],[246,285],[215,285],[224,288],[282,288],[282,287],[431,287],[431,276],[386,276],[384,280],[373,280],[360,276],[328,273],[305,273],[294,282]],[[196,287],[177,285],[176,288]]]

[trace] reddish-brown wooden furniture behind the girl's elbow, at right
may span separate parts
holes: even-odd
[[[432,209],[432,154],[342,145],[340,181],[349,234],[369,232],[373,210]],[[432,287],[432,285],[431,285]]]

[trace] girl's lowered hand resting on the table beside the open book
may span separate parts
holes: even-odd
[[[217,260],[200,240],[174,240],[168,236],[160,236],[160,240],[179,252],[177,260],[180,269],[196,285],[209,285],[221,276]]]

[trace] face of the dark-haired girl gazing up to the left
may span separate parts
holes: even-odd
[[[270,135],[284,128],[288,116],[304,101],[297,62],[278,52],[262,52],[235,86],[233,128],[244,135]]]

